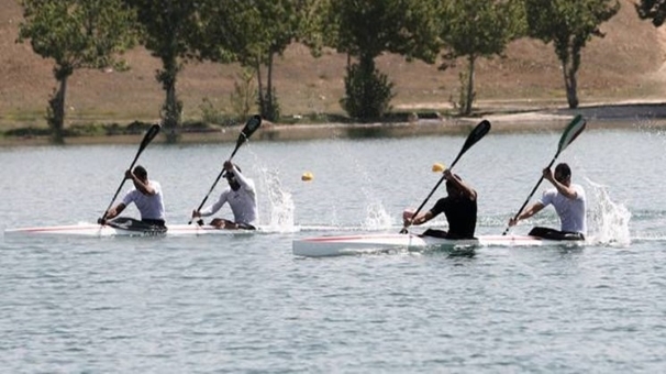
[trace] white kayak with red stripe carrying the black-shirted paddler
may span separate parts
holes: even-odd
[[[478,246],[582,245],[580,240],[546,240],[531,235],[479,235],[476,239],[444,239],[419,234],[380,233],[346,237],[315,237],[295,240],[291,250],[297,256],[323,257],[375,253],[391,250],[474,249]]]

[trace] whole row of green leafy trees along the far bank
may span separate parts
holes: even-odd
[[[520,37],[552,43],[562,63],[567,101],[578,106],[576,74],[580,53],[599,25],[620,9],[619,0],[22,0],[19,42],[55,62],[58,81],[47,120],[63,141],[67,79],[81,68],[127,68],[122,53],[143,45],[162,61],[156,80],[165,101],[162,119],[169,141],[177,140],[182,103],[178,74],[190,61],[240,63],[254,72],[262,117],[278,120],[274,62],[295,42],[320,57],[324,47],[348,56],[342,108],[360,121],[390,108],[393,85],[376,68],[382,53],[435,64],[466,64],[462,113],[475,98],[478,58],[501,56]],[[639,15],[661,25],[666,6],[636,4]]]

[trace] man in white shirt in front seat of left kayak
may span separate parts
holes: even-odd
[[[159,183],[148,179],[148,172],[141,165],[136,165],[134,170],[126,170],[125,179],[131,179],[134,188],[127,191],[122,202],[109,209],[104,222],[99,223],[106,223],[107,220],[118,217],[130,204],[134,202],[141,213],[142,222],[164,228],[164,199]]]

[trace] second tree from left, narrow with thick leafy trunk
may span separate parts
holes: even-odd
[[[192,57],[191,43],[199,36],[198,7],[193,0],[124,0],[136,10],[141,44],[162,61],[155,78],[166,98],[160,111],[167,142],[178,141],[182,102],[178,100],[176,80],[184,64]]]

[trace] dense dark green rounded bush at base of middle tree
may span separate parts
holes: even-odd
[[[347,68],[345,97],[340,105],[352,118],[376,120],[390,109],[392,87],[393,84],[375,68],[371,59],[366,64],[354,64]]]

